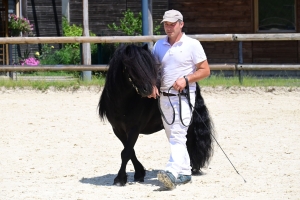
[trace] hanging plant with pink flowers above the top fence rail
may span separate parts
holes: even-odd
[[[23,34],[27,33],[28,35],[32,35],[33,24],[30,24],[30,21],[26,18],[20,18],[15,14],[10,14],[8,16],[8,29],[11,33],[16,32]]]

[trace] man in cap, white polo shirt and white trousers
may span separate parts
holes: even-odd
[[[208,77],[210,68],[200,42],[182,32],[184,22],[179,11],[166,11],[162,23],[167,37],[155,43],[153,54],[161,64],[160,107],[166,118],[163,122],[171,147],[171,155],[165,171],[158,172],[157,177],[166,188],[174,189],[176,185],[191,181],[186,134],[192,110],[186,95],[182,92],[188,91],[184,90],[188,81],[190,103],[194,106],[195,82]],[[154,86],[152,94],[148,97],[156,98],[157,95],[159,95],[159,90]],[[179,99],[181,99],[180,103]],[[171,124],[173,115],[175,115],[175,120]]]

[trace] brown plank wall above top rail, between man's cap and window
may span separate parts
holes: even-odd
[[[253,30],[251,0],[173,0],[187,34],[249,33]]]

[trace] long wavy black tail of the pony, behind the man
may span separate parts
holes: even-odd
[[[213,155],[213,123],[196,83],[196,100],[193,111],[193,122],[188,129],[187,148],[191,159],[192,173],[200,173],[207,166]]]

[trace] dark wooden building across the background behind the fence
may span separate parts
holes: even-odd
[[[20,1],[2,0],[1,16],[5,17],[3,6],[8,2],[17,5]],[[127,9],[140,12],[141,2],[89,0],[90,30],[97,35],[120,35],[107,25],[118,23]],[[36,36],[61,36],[62,7],[66,3],[70,23],[82,24],[82,0],[22,0],[19,11],[15,11],[34,23]],[[152,0],[154,23],[159,24],[169,9],[181,11],[186,34],[300,32],[300,0]],[[201,43],[210,63],[238,62],[237,42]],[[243,42],[243,58],[244,63],[299,63],[300,41]]]

